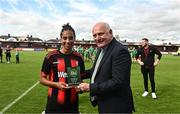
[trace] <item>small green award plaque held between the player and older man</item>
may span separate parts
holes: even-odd
[[[79,66],[67,68],[67,82],[69,87],[78,86],[81,83]]]

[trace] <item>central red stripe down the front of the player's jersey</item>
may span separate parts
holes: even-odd
[[[58,72],[65,72],[65,61],[63,58],[58,59]],[[59,82],[66,82],[65,77],[59,77]],[[58,90],[57,102],[60,104],[65,103],[65,91]]]

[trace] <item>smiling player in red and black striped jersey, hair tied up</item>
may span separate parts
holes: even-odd
[[[41,69],[40,83],[49,87],[45,113],[79,113],[78,88],[68,87],[67,71],[78,67],[83,78],[84,61],[73,50],[75,31],[69,24],[63,26],[60,37],[62,48],[49,52]]]

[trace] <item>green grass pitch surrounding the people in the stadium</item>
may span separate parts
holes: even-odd
[[[20,52],[20,64],[15,63],[14,52],[10,64],[0,63],[0,111],[39,80],[42,61],[47,52]],[[90,62],[85,63],[91,67]],[[86,80],[88,81],[88,80]],[[132,64],[131,88],[136,113],[180,113],[180,57],[163,55],[155,72],[157,99],[142,97],[143,79],[140,66]],[[149,83],[150,89],[150,83]],[[4,113],[41,113],[46,105],[47,87],[38,84]],[[81,113],[97,113],[89,102],[89,94],[79,95]]]

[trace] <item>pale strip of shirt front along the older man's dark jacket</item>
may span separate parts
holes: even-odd
[[[99,57],[98,57],[98,59],[97,59],[97,61],[96,61],[96,65],[95,65],[95,68],[94,68],[94,72],[93,72],[92,77],[91,77],[91,83],[94,83],[94,79],[95,79],[95,76],[96,76],[96,73],[97,73],[97,70],[98,70],[99,64],[100,64],[100,62],[101,62],[101,60],[102,60],[103,55],[104,55],[104,50],[101,49],[101,52],[100,52],[100,54],[99,54]]]

